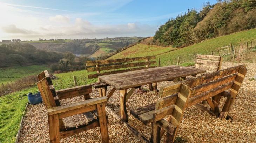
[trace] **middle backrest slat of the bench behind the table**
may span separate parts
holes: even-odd
[[[87,71],[93,72],[93,71],[102,71],[102,70],[113,70],[113,69],[119,69],[119,68],[131,68],[131,67],[139,67],[139,66],[154,65],[154,64],[156,64],[156,61],[134,62],[134,63],[125,63],[120,65],[91,67],[91,68],[87,68]]]

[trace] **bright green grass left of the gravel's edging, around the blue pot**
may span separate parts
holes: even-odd
[[[37,88],[29,88],[0,97],[0,142],[14,143],[19,129],[23,111],[28,102],[29,92],[36,92]],[[7,103],[8,102],[8,103]]]

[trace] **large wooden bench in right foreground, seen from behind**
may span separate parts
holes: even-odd
[[[245,65],[240,65],[163,86],[159,90],[161,98],[156,103],[131,110],[130,113],[144,124],[151,122],[151,142],[159,143],[165,131],[165,141],[174,142],[187,107],[195,106],[226,119],[246,73]],[[225,91],[228,89],[230,92]],[[221,97],[226,100],[220,112]],[[203,100],[207,100],[210,108],[198,104]],[[168,118],[164,120],[166,116]]]

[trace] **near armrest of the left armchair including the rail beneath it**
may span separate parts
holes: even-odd
[[[59,114],[59,118],[65,118],[76,114],[85,113],[88,111],[96,110],[96,104],[107,102],[108,97],[103,96],[100,98],[88,99],[77,103],[72,103],[64,106],[49,108],[48,115]]]

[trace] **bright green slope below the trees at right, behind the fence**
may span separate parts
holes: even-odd
[[[169,65],[170,60],[177,60],[178,57],[182,58],[182,56],[195,54],[196,52],[199,52],[199,54],[210,54],[211,51],[216,52],[218,47],[228,46],[229,43],[232,43],[233,46],[237,46],[241,42],[246,42],[254,39],[256,39],[256,29],[251,29],[230,35],[220,36],[214,39],[204,40],[203,42],[194,44],[192,46],[161,54],[157,56],[157,58],[161,59],[162,66],[166,66]],[[189,56],[187,57],[189,58]]]

